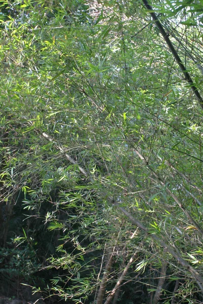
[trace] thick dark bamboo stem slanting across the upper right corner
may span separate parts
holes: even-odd
[[[176,51],[176,49],[174,48],[174,45],[172,44],[170,38],[169,38],[169,34],[166,33],[166,31],[164,30],[163,26],[161,25],[159,18],[156,16],[156,14],[153,12],[153,8],[152,6],[148,3],[147,0],[143,0],[143,3],[146,7],[146,9],[150,10],[150,15],[152,16],[159,32],[162,34],[163,39],[165,40],[166,44],[168,45],[168,48],[170,49],[170,51],[172,52],[172,54],[174,55],[174,58],[176,60],[176,62],[178,63],[181,71],[184,74],[185,79],[187,80],[187,82],[189,83],[194,95],[196,96],[201,108],[203,109],[203,99],[201,97],[201,95],[199,94],[199,91],[197,89],[197,87],[194,85],[190,74],[187,72],[186,67],[184,66],[180,56],[178,55],[178,52]]]

